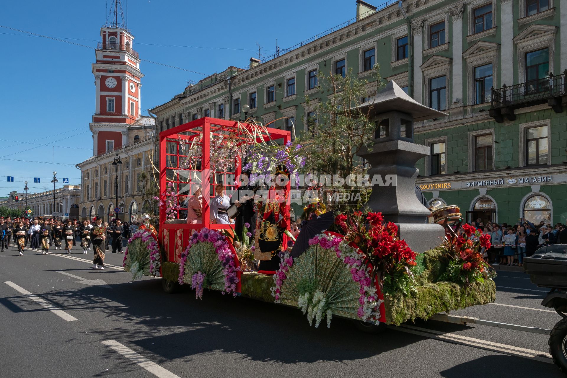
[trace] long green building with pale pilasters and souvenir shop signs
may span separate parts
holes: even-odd
[[[245,69],[231,66],[151,109],[158,128],[239,119],[247,104],[248,116],[300,131],[328,99],[315,73],[367,78],[378,63],[385,82],[447,114],[414,124],[416,143],[431,147],[417,180],[428,199],[459,205],[468,220],[566,223],[567,3],[355,3],[356,17],[344,24],[251,58]]]

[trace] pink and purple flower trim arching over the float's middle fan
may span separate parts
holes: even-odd
[[[215,249],[218,260],[221,261],[221,264],[223,266],[222,273],[223,275],[225,275],[225,291],[223,291],[222,294],[232,293],[233,296],[236,296],[236,283],[239,282],[237,273],[240,270],[240,267],[236,267],[234,254],[232,254],[232,251],[229,248],[229,243],[226,239],[226,236],[222,235],[218,231],[209,230],[209,228],[206,227],[201,228],[200,231],[195,231],[193,233],[187,245],[187,249],[185,249],[184,253],[181,253],[181,262],[179,266],[179,283],[183,284],[183,277],[185,275],[185,262],[187,262],[187,256],[191,252],[191,247],[198,243],[210,243],[211,247]]]

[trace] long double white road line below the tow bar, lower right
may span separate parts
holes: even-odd
[[[520,356],[531,360],[538,360],[541,362],[547,362],[551,364],[553,363],[553,360],[551,359],[551,355],[549,355],[547,352],[540,352],[537,350],[515,347],[513,345],[506,345],[497,342],[466,337],[450,332],[439,332],[431,329],[420,328],[405,324],[401,325],[398,328],[392,328],[392,329],[399,330],[401,332],[412,333],[428,338],[438,339],[441,341],[449,341],[460,345],[478,347],[480,349],[492,350],[503,354]]]

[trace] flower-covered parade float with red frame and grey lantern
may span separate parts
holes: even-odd
[[[183,284],[206,301],[207,291],[217,290],[296,307],[314,326],[330,326],[342,317],[368,332],[494,301],[492,273],[481,256],[481,249],[490,247],[489,237],[460,227],[458,208],[427,209],[414,193],[415,163],[428,151],[413,143],[413,120],[443,113],[390,84],[367,105],[382,109],[374,115],[386,126],[386,137],[376,138],[362,156],[371,175],[396,175],[397,185],[373,188],[364,211],[315,214],[295,244],[282,244],[274,271],[256,271],[260,251],[248,231],[255,225],[245,225],[248,237],[235,238],[234,226],[211,222],[209,202],[216,185],[227,193],[242,185],[238,178],[244,166],[252,168],[251,178],[274,173],[278,164],[289,168],[289,176],[297,175],[302,158],[290,131],[209,117],[162,131],[157,243],[147,230],[135,233],[125,270],[134,279],[162,277],[166,292]],[[268,150],[270,158],[258,153]],[[282,190],[289,193],[289,181]],[[187,203],[197,195],[202,209],[191,218]],[[289,216],[290,196],[284,198],[280,209]],[[328,227],[308,234],[314,230],[310,222],[327,214],[332,216]]]

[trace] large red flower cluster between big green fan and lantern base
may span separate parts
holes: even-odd
[[[416,253],[398,237],[396,224],[384,223],[382,213],[339,214],[335,228],[345,239],[356,244],[371,268],[371,278],[384,284],[384,292],[402,291],[409,294],[413,275],[409,268],[416,265]]]

